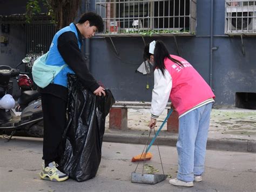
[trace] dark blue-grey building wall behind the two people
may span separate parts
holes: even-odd
[[[91,1],[95,10],[95,1]],[[234,105],[236,92],[256,93],[256,36],[244,37],[245,55],[240,37],[224,34],[225,1],[214,0],[212,89],[215,105]],[[178,46],[186,60],[210,83],[210,20],[211,0],[197,0],[196,37],[177,37]],[[149,75],[150,89],[146,89],[147,76],[135,73],[142,63],[142,38],[112,38],[119,56],[109,38],[91,40],[91,71],[96,79],[110,88],[118,101],[151,101],[153,74]],[[177,54],[173,37],[147,37],[165,42],[171,54]]]

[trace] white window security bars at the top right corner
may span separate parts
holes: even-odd
[[[256,35],[256,1],[226,0],[225,33]]]

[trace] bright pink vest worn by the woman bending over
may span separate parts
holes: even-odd
[[[172,77],[171,102],[179,115],[209,98],[214,98],[210,86],[185,59],[171,55],[183,63],[184,68],[166,58],[165,67]]]

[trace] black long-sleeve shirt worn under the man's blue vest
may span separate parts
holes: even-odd
[[[78,40],[82,45],[82,34],[78,30],[77,26],[76,30],[78,33]],[[95,91],[99,87],[99,84],[89,72],[85,64],[84,56],[78,46],[78,40],[76,34],[71,31],[62,33],[58,38],[58,51],[60,55],[62,55],[66,64],[75,72],[83,85],[91,91]],[[54,83],[40,89],[40,91],[41,93],[52,94],[65,100],[68,96],[68,89],[66,87]]]

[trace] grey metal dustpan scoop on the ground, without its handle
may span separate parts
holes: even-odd
[[[167,175],[164,174],[147,174],[132,172],[132,183],[156,184],[164,181]]]

